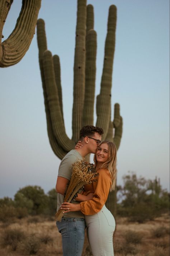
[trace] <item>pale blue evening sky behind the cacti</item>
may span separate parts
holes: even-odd
[[[117,6],[112,106],[118,102],[123,136],[118,150],[118,184],[134,171],[160,177],[169,190],[169,1],[88,0],[97,32],[96,91],[100,91],[108,9]],[[3,30],[6,39],[21,9],[14,0]],[[42,0],[39,18],[46,23],[48,49],[61,61],[66,132],[72,136],[73,66],[76,0]],[[0,197],[20,187],[55,187],[58,159],[48,141],[38,64],[36,34],[18,64],[0,69]],[[113,109],[113,108],[112,108]],[[113,116],[113,111],[112,111]],[[95,115],[96,120],[96,115]]]

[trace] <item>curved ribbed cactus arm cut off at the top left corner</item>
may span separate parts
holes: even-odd
[[[12,3],[13,0],[0,1],[0,38],[3,38],[4,23]],[[13,32],[0,44],[0,67],[18,63],[27,52],[35,34],[40,6],[41,0],[22,1],[22,9]]]

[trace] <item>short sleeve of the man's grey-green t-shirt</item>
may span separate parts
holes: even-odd
[[[58,169],[58,176],[66,178],[67,180],[71,180],[72,174],[72,164],[74,164],[77,160],[75,155],[68,155],[66,156],[60,163]]]

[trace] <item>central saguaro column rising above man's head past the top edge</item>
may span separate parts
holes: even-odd
[[[72,109],[72,140],[79,139],[85,91],[86,0],[77,1],[76,45],[74,58],[74,103]]]

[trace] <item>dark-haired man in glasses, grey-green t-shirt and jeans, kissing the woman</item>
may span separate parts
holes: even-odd
[[[77,158],[82,159],[89,153],[96,153],[102,135],[102,128],[94,127],[93,125],[82,127],[80,130],[80,140],[82,141],[83,147],[71,150],[62,159],[58,169],[56,183],[56,191],[58,193],[57,211],[60,209],[61,203],[63,202],[63,195],[67,183],[71,179],[72,164],[76,162]],[[91,198],[91,194],[88,196],[78,194],[76,200],[80,202],[90,200]],[[85,220],[82,212],[65,213],[61,222],[57,222],[56,224],[58,231],[62,235],[63,256],[81,256],[85,236]]]

